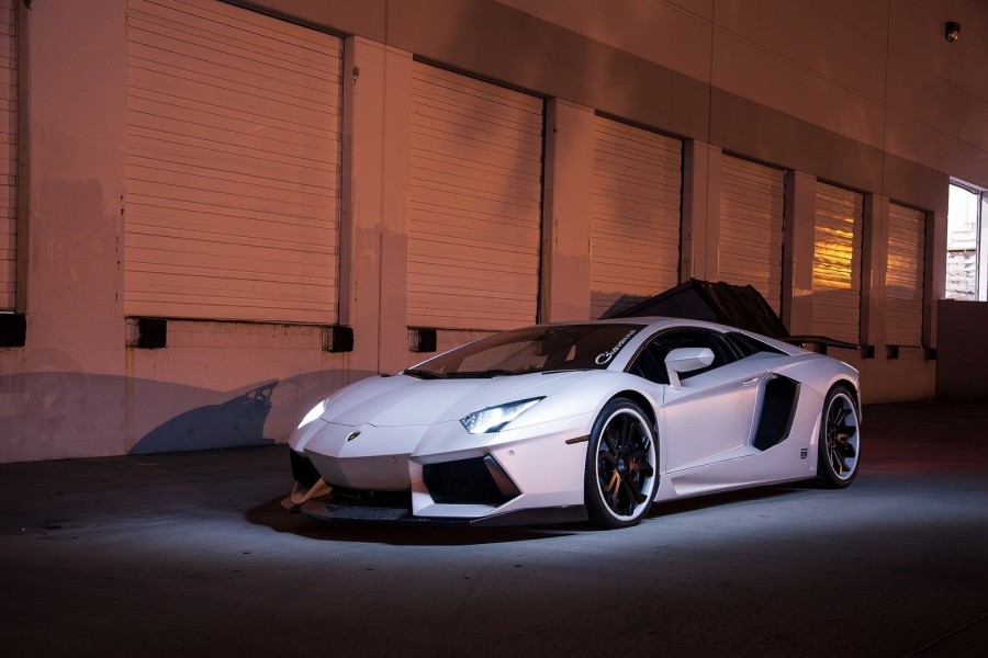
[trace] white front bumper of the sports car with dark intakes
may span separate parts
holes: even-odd
[[[467,435],[459,423],[420,430],[323,423],[292,446],[296,487],[283,504],[334,521],[585,520],[588,422],[570,418],[480,435]],[[324,490],[313,491],[316,479]]]

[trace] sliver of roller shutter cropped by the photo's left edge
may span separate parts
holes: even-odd
[[[16,0],[0,0],[0,310],[13,310],[18,280]]]

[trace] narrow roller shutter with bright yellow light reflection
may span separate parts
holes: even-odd
[[[813,333],[858,342],[861,226],[864,196],[817,183],[813,246]]]

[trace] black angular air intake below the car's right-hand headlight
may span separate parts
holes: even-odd
[[[521,491],[494,457],[475,457],[423,466],[423,481],[438,503],[504,504]]]

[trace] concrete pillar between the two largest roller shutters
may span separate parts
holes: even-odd
[[[344,61],[340,324],[353,327],[350,371],[396,371],[408,361],[412,55],[350,37]]]

